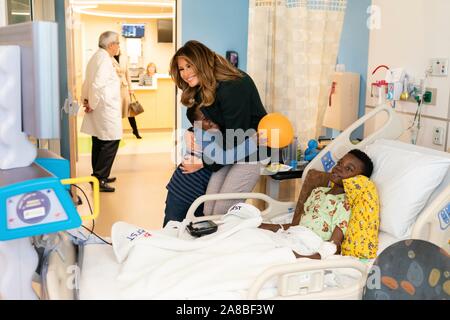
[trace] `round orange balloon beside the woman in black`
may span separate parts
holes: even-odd
[[[294,138],[291,122],[278,112],[269,113],[261,119],[258,133],[261,138],[267,139],[267,145],[271,148],[284,148]]]

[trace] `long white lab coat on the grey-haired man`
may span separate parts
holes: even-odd
[[[123,132],[120,78],[112,59],[104,49],[92,56],[81,93],[93,109],[84,115],[81,132],[105,141],[120,140]]]

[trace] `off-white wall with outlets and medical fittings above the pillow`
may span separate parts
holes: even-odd
[[[425,70],[431,58],[450,59],[450,1],[373,0],[373,5],[381,10],[381,28],[370,31],[367,81],[369,88],[366,99],[369,106],[376,104],[376,99],[370,97],[370,83],[384,78],[385,75],[383,71],[372,76],[376,66],[386,64],[391,68],[403,67],[408,74],[419,79],[425,77]],[[426,86],[437,89],[437,105],[423,107],[424,117],[418,144],[447,150],[450,146],[437,146],[432,143],[432,130],[433,126],[440,126],[448,131],[450,77],[430,77]],[[412,121],[410,114],[414,114],[416,109],[415,103],[397,103],[397,110],[402,113],[407,127],[410,125],[409,121]],[[447,135],[450,137],[450,133],[446,132],[445,136]],[[405,134],[403,140],[409,141],[409,136]]]

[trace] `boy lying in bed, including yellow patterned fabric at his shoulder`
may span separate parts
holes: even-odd
[[[375,258],[378,249],[379,203],[370,181],[373,163],[360,150],[341,158],[331,173],[310,170],[300,193],[292,223],[262,224],[277,232],[303,226],[336,245],[336,254]],[[331,187],[323,187],[331,184]],[[353,211],[353,212],[352,212]],[[321,254],[297,258],[321,259]]]

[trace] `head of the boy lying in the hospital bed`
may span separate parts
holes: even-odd
[[[353,149],[343,156],[331,171],[331,181],[342,185],[342,180],[364,175],[372,175],[373,163],[369,156],[358,149]]]

